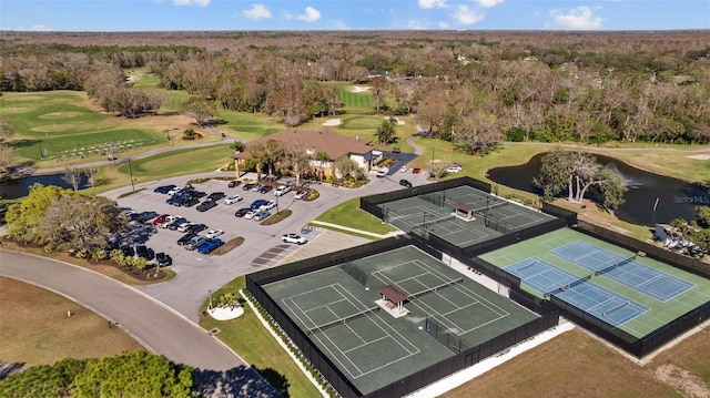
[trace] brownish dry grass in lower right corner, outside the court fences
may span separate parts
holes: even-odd
[[[698,373],[687,360],[696,360],[687,348],[708,353],[708,333],[681,343],[653,363],[641,367],[586,333],[575,329],[528,350],[463,386],[443,395],[445,398],[470,397],[684,397],[679,389],[659,381],[655,371],[663,363],[676,363]],[[687,348],[683,348],[687,347]],[[682,353],[682,354],[681,354]],[[677,354],[681,354],[678,356]],[[697,354],[697,353],[696,353]],[[661,359],[663,358],[663,359]],[[668,358],[668,359],[666,359]],[[692,358],[692,359],[691,359]],[[707,378],[706,378],[707,382]]]

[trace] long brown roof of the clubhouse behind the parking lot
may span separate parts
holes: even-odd
[[[234,155],[234,159],[248,159],[251,146],[266,143],[271,140],[281,141],[287,146],[301,145],[304,151],[314,151],[315,153],[325,152],[329,160],[336,160],[344,155],[364,155],[373,150],[372,146],[365,144],[357,137],[337,135],[321,131],[310,130],[287,130],[281,133],[263,136],[258,140],[250,141],[244,144],[244,152]]]

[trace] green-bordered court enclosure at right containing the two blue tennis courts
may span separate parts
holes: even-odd
[[[569,228],[487,253],[480,258],[514,275],[516,269],[521,269],[516,276],[521,278],[523,287],[539,297],[544,295],[541,290],[567,285],[566,279],[585,277],[591,272],[589,280],[558,292],[557,298],[595,316],[609,313],[604,309],[607,302],[630,303],[638,309],[633,316],[618,322],[604,320],[638,338],[710,302],[710,280]],[[538,266],[525,266],[536,259]],[[518,264],[521,266],[516,266]],[[544,264],[549,264],[547,268],[552,272],[542,267]],[[557,274],[570,276],[565,279],[555,276]],[[550,279],[549,286],[541,283],[547,279]],[[589,297],[599,296],[598,292],[609,292],[606,294],[609,299],[590,300]],[[595,313],[597,309],[599,314]]]

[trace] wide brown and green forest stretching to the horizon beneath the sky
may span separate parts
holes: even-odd
[[[503,140],[708,143],[710,45],[707,33],[185,33],[204,47],[20,35],[0,42],[0,90],[85,90],[136,118],[162,106],[125,81],[124,70],[148,68],[164,89],[293,126],[336,114],[331,83],[353,82],[373,86],[373,113],[413,114],[429,135],[471,153]],[[74,44],[38,43],[62,39]]]

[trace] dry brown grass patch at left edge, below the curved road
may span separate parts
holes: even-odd
[[[0,287],[3,363],[29,367],[143,350],[120,328],[110,328],[105,319],[63,296],[6,277],[0,277]]]

